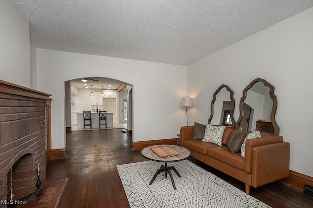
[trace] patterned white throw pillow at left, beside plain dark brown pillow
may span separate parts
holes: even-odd
[[[213,126],[207,124],[205,127],[204,137],[202,142],[209,142],[222,146],[222,137],[224,134],[225,126]]]

